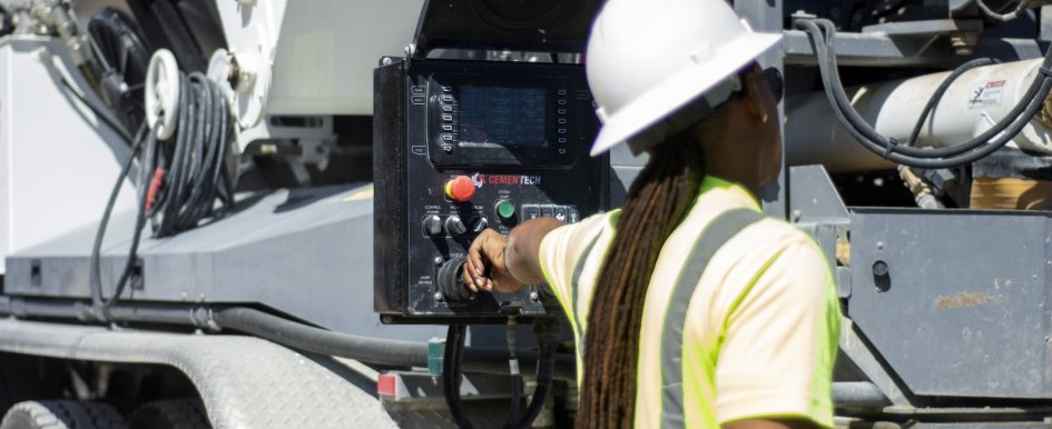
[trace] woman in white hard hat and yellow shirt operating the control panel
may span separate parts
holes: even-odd
[[[481,233],[464,281],[547,283],[578,340],[578,428],[832,427],[839,309],[814,241],[764,217],[781,77],[722,0],[610,0],[588,42],[599,154],[649,160],[619,210]]]

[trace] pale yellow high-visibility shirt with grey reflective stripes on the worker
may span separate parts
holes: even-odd
[[[541,268],[578,343],[619,210],[550,232]],[[708,177],[661,248],[643,307],[637,428],[718,428],[796,417],[833,426],[839,305],[822,251],[766,218],[741,187]],[[581,382],[582,371],[578,371]]]

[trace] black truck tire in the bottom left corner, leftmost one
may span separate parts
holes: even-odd
[[[23,401],[8,410],[0,429],[127,429],[117,410],[69,399]]]

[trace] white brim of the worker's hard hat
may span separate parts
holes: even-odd
[[[730,77],[781,40],[781,34],[747,33],[721,47],[709,61],[695,62],[690,68],[666,79],[632,102],[611,114],[603,122],[592,144],[591,156],[647,130],[661,118],[682,108],[691,100]]]

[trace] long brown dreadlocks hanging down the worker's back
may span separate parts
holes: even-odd
[[[650,276],[705,179],[698,139],[719,138],[729,109],[679,131],[650,150],[629,189],[600,270],[584,335],[584,380],[577,428],[631,428],[636,413],[639,331]]]

